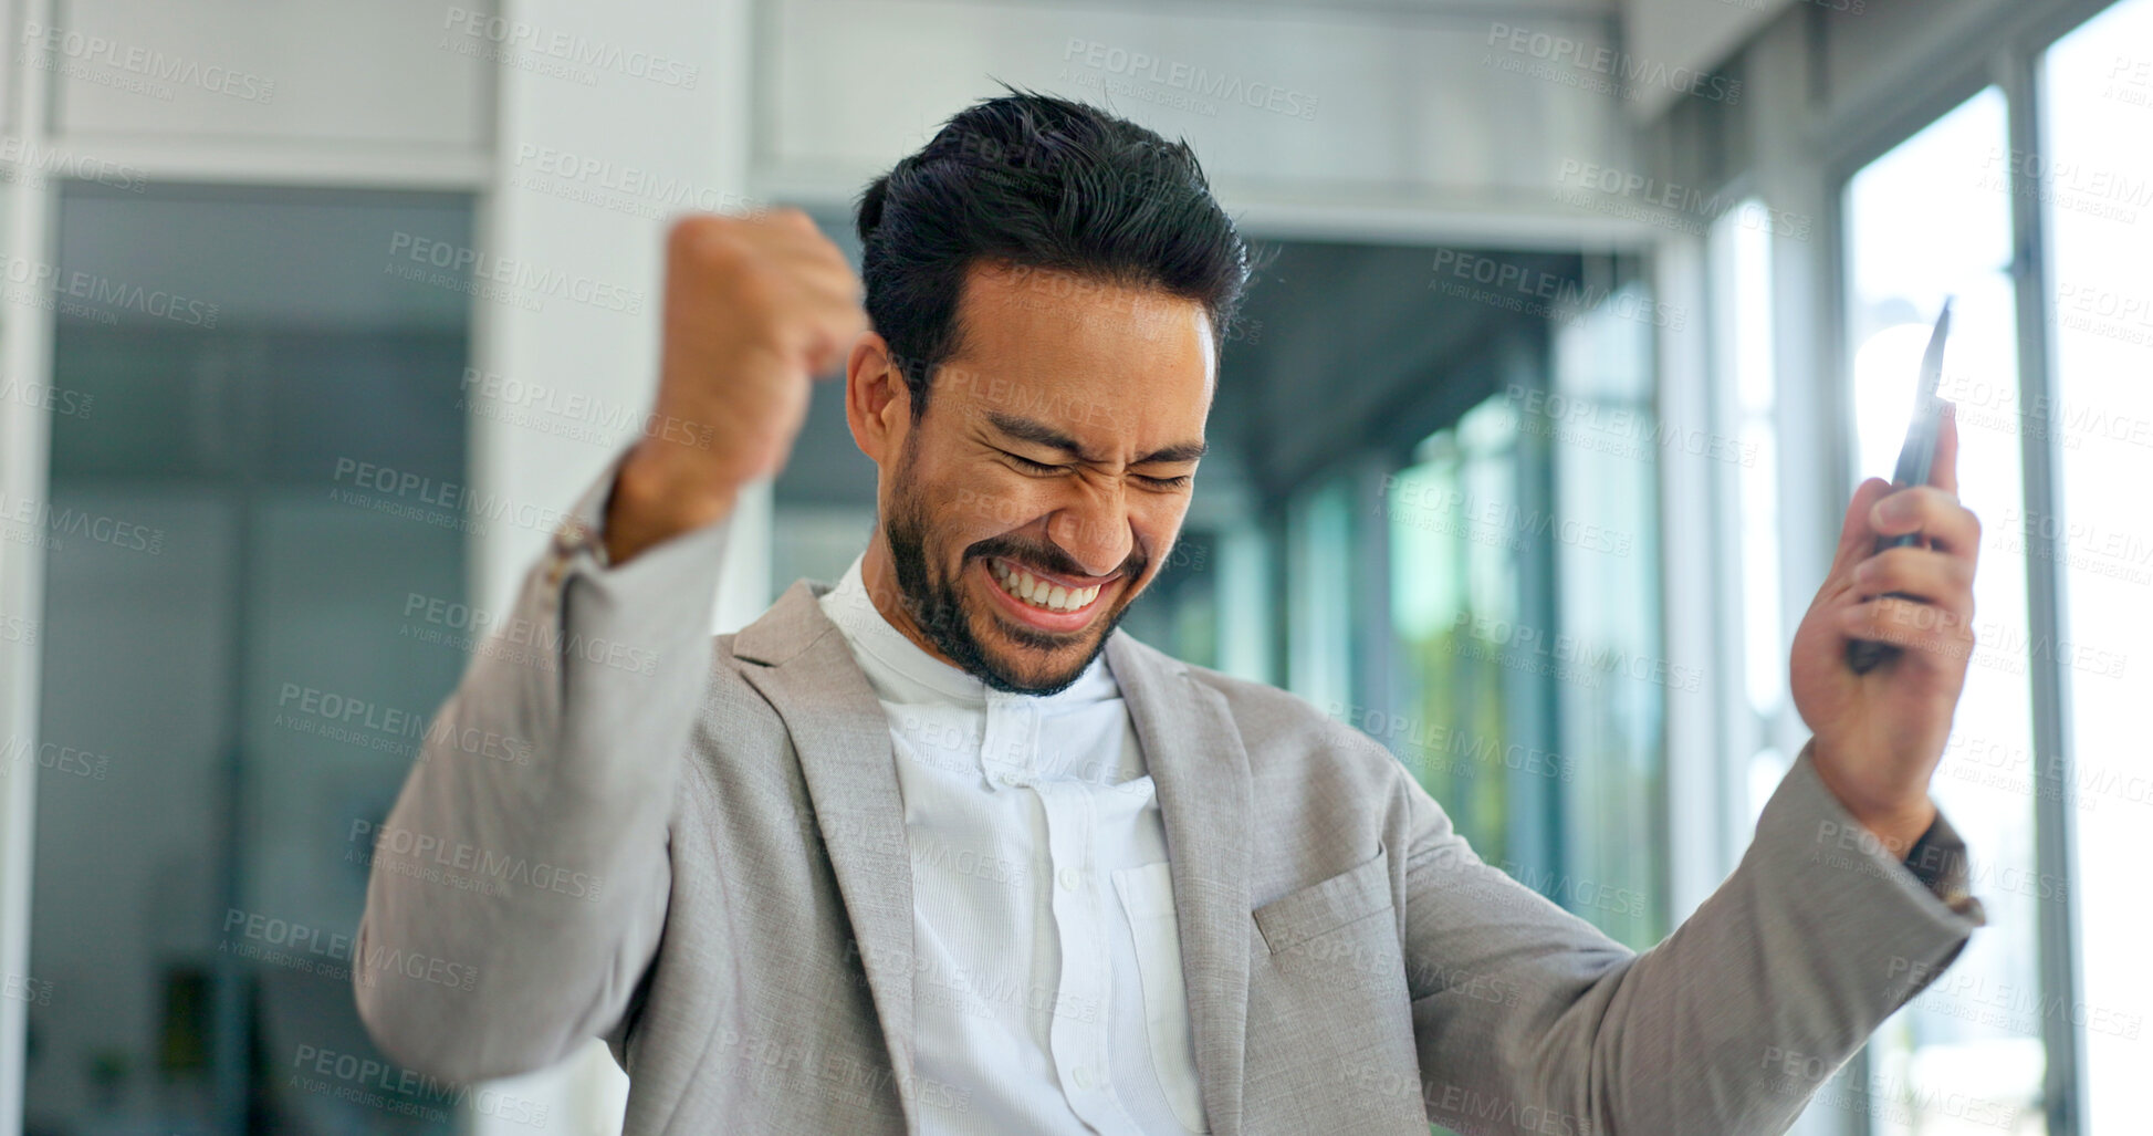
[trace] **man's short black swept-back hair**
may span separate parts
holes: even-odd
[[[980,261],[1160,289],[1204,304],[1225,345],[1249,248],[1188,142],[1104,110],[1018,91],[954,114],[859,194],[868,317],[926,412],[958,351],[958,297]]]

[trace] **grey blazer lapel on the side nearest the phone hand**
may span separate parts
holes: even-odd
[[[1115,632],[1107,666],[1167,828],[1204,1114],[1214,1134],[1236,1134],[1249,1030],[1249,754],[1225,698],[1180,662]]]

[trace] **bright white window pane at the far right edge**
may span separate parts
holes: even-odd
[[[2078,830],[2078,948],[2091,1099],[2084,1132],[2136,1132],[2153,1067],[2153,912],[2138,877],[2153,823],[2144,705],[2153,683],[2153,0],[2125,0],[2056,41],[2043,67],[2048,153],[2026,192],[2045,205],[2056,379],[2032,407],[2063,455],[2056,517],[1989,517],[1985,554],[2054,537],[2067,604],[2063,642]],[[2136,657],[2134,657],[2136,655]]]

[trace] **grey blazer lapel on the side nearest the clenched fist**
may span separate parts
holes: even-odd
[[[889,718],[838,625],[797,580],[734,636],[743,675],[792,735],[822,847],[883,1022],[906,1132],[919,1130],[913,1076],[913,869]]]

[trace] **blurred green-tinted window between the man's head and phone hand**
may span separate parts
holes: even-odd
[[[1645,948],[1666,933],[1651,315],[1578,289],[1548,384],[1423,440],[1374,507],[1391,550],[1387,742],[1490,862]]]

